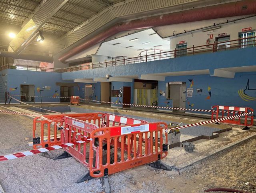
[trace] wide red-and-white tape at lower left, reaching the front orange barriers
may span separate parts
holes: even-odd
[[[76,143],[85,143],[88,141],[92,141],[92,139],[86,139],[85,141],[76,141]],[[8,155],[2,155],[0,156],[0,161],[6,161],[6,160],[10,160],[10,159],[16,159],[16,158],[20,158],[20,157],[26,157],[28,155],[35,155],[38,153],[43,153],[46,151],[52,151],[55,149],[61,149],[63,147],[70,147],[75,145],[75,143],[64,143],[64,144],[60,144],[60,145],[53,145],[51,147],[44,147],[44,148],[39,148],[39,149],[33,149],[33,150],[28,150],[28,151],[22,151],[19,153],[13,153],[13,154],[8,154]]]

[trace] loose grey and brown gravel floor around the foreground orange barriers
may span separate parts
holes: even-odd
[[[0,155],[29,150],[32,118],[0,113]],[[250,132],[250,131],[249,131]],[[28,137],[29,140],[26,140]],[[112,192],[203,192],[209,187],[237,187],[256,183],[256,139],[212,156],[178,175],[142,165],[109,176]],[[58,155],[62,150],[52,151]],[[182,159],[182,158],[181,158]],[[52,160],[40,155],[0,162],[0,184],[6,193],[95,192],[103,191],[99,179],[76,184],[85,167],[75,159]]]

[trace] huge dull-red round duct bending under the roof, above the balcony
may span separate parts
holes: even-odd
[[[256,0],[244,0],[142,18],[128,22],[121,22],[108,28],[106,31],[101,32],[97,36],[94,36],[87,42],[72,48],[72,50],[60,56],[58,60],[60,62],[66,63],[65,60],[68,58],[82,52],[83,50],[86,50],[87,48],[90,48],[95,44],[98,44],[99,42],[102,42],[106,38],[109,38],[118,32],[250,14],[256,14]]]

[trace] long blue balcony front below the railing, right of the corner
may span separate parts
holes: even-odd
[[[134,76],[141,74],[154,74],[164,72],[180,72],[190,70],[209,70],[214,73],[216,68],[230,68],[239,66],[254,66],[256,60],[256,48],[245,48],[228,50],[225,52],[214,52],[198,54],[139,64],[127,64],[111,66],[107,68],[96,68],[91,70],[80,70],[62,73],[63,80],[74,80],[75,78],[99,78],[106,74],[111,76]]]

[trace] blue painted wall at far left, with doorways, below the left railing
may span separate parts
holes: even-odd
[[[50,86],[51,90],[42,91],[42,96],[54,96],[58,93],[60,96],[60,86],[56,86],[56,82],[63,83],[73,83],[73,81],[62,80],[61,73],[52,73],[52,72],[34,72],[26,70],[15,70],[8,69],[3,71],[7,74],[7,87],[10,94],[20,95],[20,85],[28,84],[34,85],[34,96],[40,96],[40,92],[37,92],[37,88],[42,89],[42,87]],[[77,86],[74,87],[74,95],[84,98],[84,83],[78,83],[79,89]],[[13,90],[17,88],[16,90]],[[57,90],[57,92],[55,92]],[[58,96],[58,97],[59,97]],[[16,97],[20,100],[20,97]],[[16,102],[16,101],[12,101]],[[40,97],[35,97],[34,102],[41,102]],[[42,97],[42,102],[60,102],[60,98],[44,98]]]

